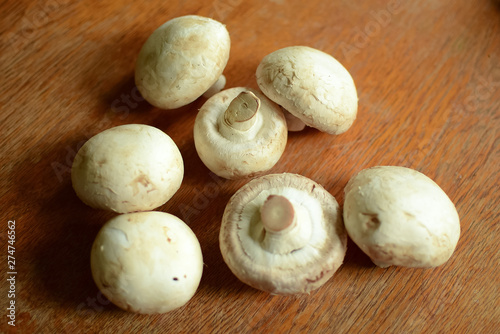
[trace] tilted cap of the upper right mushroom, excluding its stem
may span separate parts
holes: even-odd
[[[307,46],[279,49],[262,59],[256,75],[267,97],[311,127],[340,134],[356,119],[354,81],[329,54]]]

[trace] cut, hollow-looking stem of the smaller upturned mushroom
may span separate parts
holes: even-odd
[[[235,130],[247,131],[254,125],[259,108],[260,100],[254,93],[241,92],[224,112],[224,123]]]

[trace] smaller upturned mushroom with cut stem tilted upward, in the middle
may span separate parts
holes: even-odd
[[[226,179],[269,170],[283,154],[286,141],[286,121],[280,108],[250,88],[226,89],[212,96],[194,123],[200,159]]]

